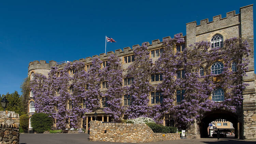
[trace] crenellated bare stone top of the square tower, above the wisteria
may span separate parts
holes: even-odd
[[[231,11],[227,12],[226,17],[224,18],[222,18],[222,15],[216,15],[213,16],[212,21],[209,21],[208,18],[203,19],[200,20],[200,25],[197,25],[196,21],[187,23],[186,34],[187,39],[189,40],[189,42],[187,41],[187,45],[194,44],[194,42],[202,40],[210,41],[210,38],[215,33],[223,35],[224,39],[231,38],[231,35],[232,37],[242,37],[243,30],[239,33],[238,29],[240,29],[239,27],[243,25],[246,19],[250,19],[249,21],[252,20],[250,17],[248,17],[248,15],[252,15],[252,8],[253,4],[241,7],[239,14],[236,14],[236,11]],[[244,20],[242,20],[243,17]]]

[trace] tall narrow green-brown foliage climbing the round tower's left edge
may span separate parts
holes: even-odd
[[[22,94],[20,95],[20,98],[22,100],[22,109],[24,113],[28,113],[28,100],[30,97],[30,78],[26,77],[24,79],[24,82],[22,85],[20,85],[20,89]]]

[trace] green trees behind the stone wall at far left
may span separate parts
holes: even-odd
[[[6,93],[6,95],[2,95],[0,100],[2,100],[6,97],[6,99],[9,101],[8,107],[5,109],[6,111],[14,111],[15,113],[22,115],[25,114],[22,108],[22,100],[18,94],[17,91],[14,91],[14,93]],[[0,107],[0,110],[3,111],[3,107]]]

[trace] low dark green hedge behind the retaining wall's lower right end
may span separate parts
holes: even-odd
[[[155,124],[155,123],[146,123],[148,127],[150,127],[155,133],[176,133],[176,127],[166,127],[163,125]]]

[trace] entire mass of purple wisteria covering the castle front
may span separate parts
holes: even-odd
[[[205,112],[217,109],[236,112],[241,107],[242,91],[247,86],[243,77],[248,71],[248,42],[231,38],[224,41],[223,47],[211,48],[210,42],[201,41],[177,51],[176,45],[183,43],[181,33],[173,39],[165,39],[163,51],[154,64],[147,43],[143,43],[133,49],[134,61],[127,63],[130,65],[124,71],[120,58],[110,55],[108,66],[103,69],[102,61],[95,57],[87,72],[83,62],[74,62],[72,65],[67,63],[58,76],[57,67],[51,68],[48,77],[36,73],[31,81],[35,111],[55,118],[59,129],[68,124],[78,128],[84,113],[99,109],[113,116],[114,121],[121,120],[126,114],[128,118],[150,117],[162,123],[165,114],[169,113],[175,125],[182,129],[189,128],[195,120],[200,121]],[[218,74],[211,70],[216,61],[223,63]],[[75,73],[70,75],[71,69]],[[152,74],[161,75],[161,82],[155,83],[155,87],[150,83]],[[123,87],[123,78],[131,80],[131,84]],[[108,83],[105,93],[100,89],[102,82]],[[74,91],[69,92],[69,87]],[[212,100],[212,92],[219,88],[225,91],[224,100],[216,102]],[[151,92],[161,93],[159,104],[150,105]],[[131,104],[126,111],[122,105],[123,95],[131,95]],[[107,107],[101,108],[102,97],[108,99]],[[68,109],[70,100],[72,108]]]

